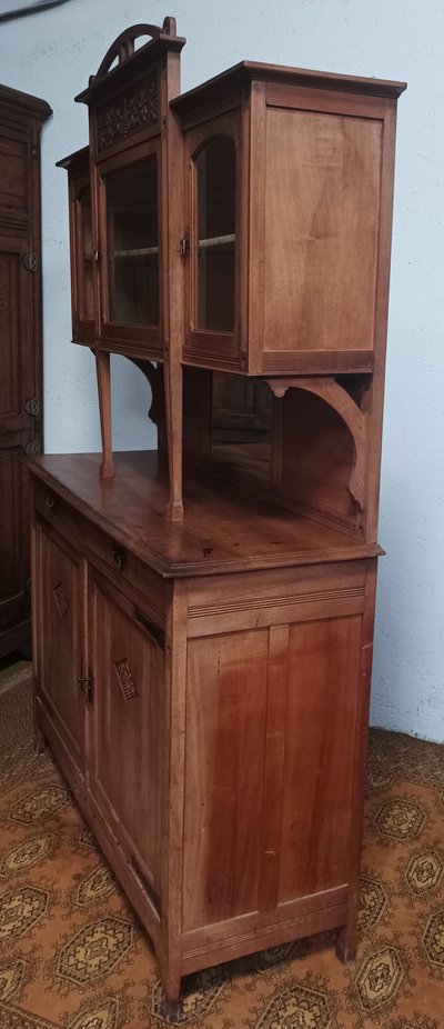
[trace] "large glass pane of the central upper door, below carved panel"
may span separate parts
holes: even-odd
[[[109,321],[159,324],[155,154],[112,171],[107,189]]]

